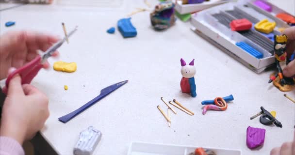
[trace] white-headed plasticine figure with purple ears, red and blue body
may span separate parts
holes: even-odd
[[[186,62],[181,58],[180,64],[181,64],[181,81],[180,81],[180,88],[182,93],[190,93],[192,97],[196,97],[196,84],[195,84],[195,74],[196,74],[196,68],[194,66],[193,59],[192,62],[189,63],[189,65],[186,65]]]

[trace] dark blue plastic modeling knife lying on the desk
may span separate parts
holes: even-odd
[[[69,114],[66,114],[65,116],[62,116],[62,117],[58,118],[58,120],[60,122],[62,122],[62,123],[67,123],[69,120],[71,120],[72,118],[74,118],[75,116],[80,114],[82,111],[88,109],[89,107],[91,107],[92,105],[97,103],[99,100],[101,100],[102,98],[104,98],[108,94],[114,92],[116,89],[120,88],[121,86],[123,86],[127,82],[128,82],[128,80],[118,82],[118,83],[115,83],[115,84],[113,84],[111,86],[108,86],[108,87],[102,89],[100,91],[100,94],[98,96],[96,96],[94,99],[92,99],[91,101],[89,101],[88,103],[86,103],[85,105],[80,107],[79,109],[77,109],[77,110],[75,110],[75,111],[73,111],[73,112],[71,112]]]

